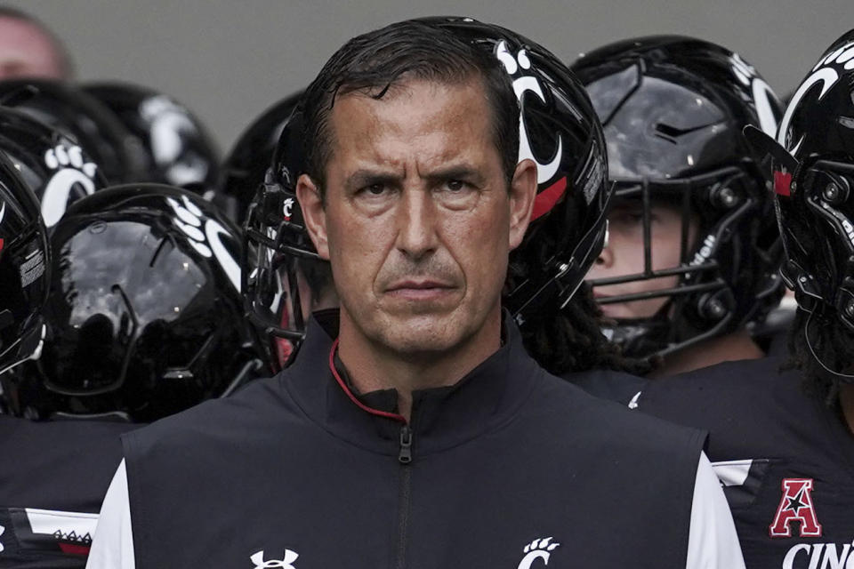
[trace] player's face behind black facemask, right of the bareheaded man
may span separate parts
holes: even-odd
[[[653,270],[678,267],[681,261],[681,208],[671,204],[654,203],[649,223]],[[689,224],[689,243],[695,239],[696,227],[697,223],[692,220]],[[608,216],[608,246],[602,249],[587,278],[626,276],[643,271],[643,206],[638,199],[624,200],[616,204]],[[622,294],[660,291],[675,286],[678,279],[678,276],[662,276],[645,281],[596,286],[593,288],[593,294],[601,299]],[[660,297],[602,304],[601,309],[609,318],[649,318],[665,306],[667,300],[667,297]]]

